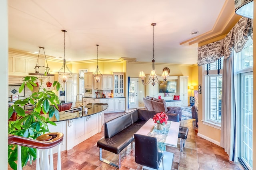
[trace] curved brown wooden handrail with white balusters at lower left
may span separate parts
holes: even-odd
[[[52,132],[34,139],[25,138],[9,134],[8,144],[18,145],[17,170],[22,170],[21,166],[21,146],[36,148],[36,170],[53,170],[52,148],[58,145],[57,170],[61,170],[60,143],[63,141],[63,133]],[[49,153],[50,151],[50,153]],[[50,162],[49,155],[50,154]],[[40,158],[40,161],[39,161]]]

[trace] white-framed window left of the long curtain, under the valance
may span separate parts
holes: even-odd
[[[204,116],[203,123],[220,128],[223,57],[204,65]]]

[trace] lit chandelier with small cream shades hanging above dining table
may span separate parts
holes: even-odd
[[[162,83],[158,80],[158,77],[156,75],[156,71],[155,71],[155,57],[154,57],[154,47],[155,47],[155,39],[154,39],[154,27],[156,26],[156,23],[152,23],[151,26],[153,26],[153,59],[152,59],[152,70],[150,71],[150,75],[149,75],[149,79],[148,82],[144,82],[144,77],[146,77],[144,71],[140,71],[140,75],[139,77],[141,78],[142,84],[143,85],[148,85],[149,83],[151,83],[153,86],[156,85],[156,83],[158,83],[159,85],[164,85],[164,83],[166,82],[166,77],[169,76],[168,71],[164,70],[162,73],[162,77],[164,78],[164,81],[162,81]]]

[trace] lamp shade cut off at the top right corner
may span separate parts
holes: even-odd
[[[235,12],[240,16],[253,19],[253,0],[235,0]]]

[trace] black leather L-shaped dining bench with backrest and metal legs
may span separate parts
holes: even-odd
[[[104,124],[104,137],[98,140],[100,161],[121,168],[120,152],[134,140],[134,134],[158,112],[137,109]],[[169,121],[179,122],[177,114],[166,113]],[[102,158],[102,149],[118,154],[118,164]]]

